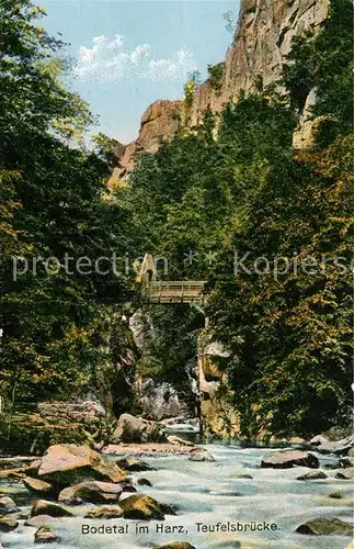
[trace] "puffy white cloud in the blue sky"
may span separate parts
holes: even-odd
[[[193,54],[181,49],[171,58],[155,58],[149,44],[128,51],[124,36],[113,40],[94,36],[91,45],[80,46],[76,75],[82,80],[116,81],[138,77],[150,80],[175,80],[197,66]]]

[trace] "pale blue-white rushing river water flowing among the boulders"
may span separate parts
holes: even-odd
[[[152,486],[137,486],[139,492],[151,495],[161,503],[172,504],[176,516],[165,516],[165,520],[135,522],[117,519],[84,519],[87,508],[72,507],[72,518],[53,518],[60,542],[49,547],[56,549],[142,549],[163,545],[172,540],[189,541],[196,549],[344,549],[350,537],[304,536],[296,528],[311,518],[340,518],[351,522],[352,483],[338,480],[335,469],[339,458],[317,455],[320,469],[328,479],[299,481],[298,475],[308,472],[306,468],[261,469],[261,458],[266,448],[241,448],[236,445],[206,445],[215,462],[190,461],[187,457],[169,456],[142,458],[153,471],[136,472],[135,481],[148,479]],[[316,452],[313,452],[316,453]],[[248,473],[252,479],[237,478]],[[28,512],[33,498],[21,484],[2,482],[0,492],[11,495],[21,511]],[[342,498],[331,498],[330,493],[340,492]],[[124,494],[128,496],[130,494]],[[36,528],[24,526],[1,536],[4,548],[44,548],[34,545]],[[244,528],[245,524],[273,524],[274,529],[258,531],[220,531],[230,525]],[[90,527],[125,526],[125,534],[82,534],[82,525]],[[241,526],[240,526],[241,525]],[[163,528],[175,527],[174,533],[162,533]],[[253,526],[254,527],[254,526]],[[183,531],[178,531],[180,529]],[[275,529],[276,528],[276,529]],[[137,531],[138,529],[138,531]],[[213,531],[216,530],[216,531]],[[219,529],[219,531],[217,531]]]

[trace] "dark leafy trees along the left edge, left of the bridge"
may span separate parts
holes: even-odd
[[[98,317],[124,298],[113,273],[75,268],[124,254],[125,214],[105,200],[104,152],[82,145],[92,116],[61,83],[62,44],[37,25],[42,15],[30,0],[0,5],[0,391],[12,411],[88,388]]]

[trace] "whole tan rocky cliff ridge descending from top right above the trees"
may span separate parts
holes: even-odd
[[[134,155],[155,152],[181,123],[195,125],[206,109],[218,112],[240,90],[256,91],[278,80],[294,36],[315,29],[327,16],[330,0],[242,0],[239,21],[217,77],[195,91],[187,116],[183,101],[156,101],[141,117],[138,138],[119,147],[111,183],[134,168]]]

